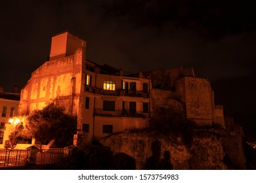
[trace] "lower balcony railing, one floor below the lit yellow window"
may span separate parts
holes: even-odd
[[[95,110],[95,116],[112,116],[112,117],[130,117],[130,118],[149,118],[148,113],[143,112],[130,112],[126,110]]]

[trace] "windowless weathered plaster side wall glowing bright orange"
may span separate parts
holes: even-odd
[[[32,73],[21,92],[20,115],[43,108],[52,100],[64,106],[66,112],[77,115],[83,51],[78,48],[74,56],[47,61]]]

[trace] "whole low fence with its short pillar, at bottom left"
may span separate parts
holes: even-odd
[[[68,149],[53,148],[43,150],[0,150],[0,167],[51,164],[56,159],[67,156]],[[33,161],[33,162],[32,162]]]

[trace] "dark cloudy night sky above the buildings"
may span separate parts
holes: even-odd
[[[125,73],[194,67],[217,104],[244,124],[256,114],[256,1],[1,1],[0,86],[22,88],[62,31],[87,41],[87,59]],[[245,119],[248,118],[248,119]]]

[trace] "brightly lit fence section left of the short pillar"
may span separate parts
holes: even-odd
[[[28,150],[0,150],[0,167],[26,165],[29,156]]]

